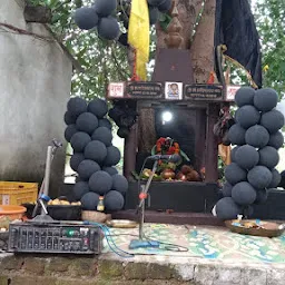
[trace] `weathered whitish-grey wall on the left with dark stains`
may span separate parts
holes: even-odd
[[[23,0],[0,0],[0,22],[50,37],[26,23]],[[0,180],[41,181],[47,147],[62,142],[72,65],[55,41],[18,35],[0,26]],[[52,193],[63,180],[65,149],[52,167]],[[51,185],[51,187],[52,187]]]

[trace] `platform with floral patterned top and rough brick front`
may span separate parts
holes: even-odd
[[[119,248],[128,250],[137,230],[111,229],[110,234]],[[269,239],[222,227],[159,224],[147,224],[145,233],[188,252],[138,249],[128,258],[107,247],[98,257],[2,254],[0,285],[285,284],[285,236]]]

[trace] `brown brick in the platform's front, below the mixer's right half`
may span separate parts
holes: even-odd
[[[98,271],[97,259],[95,258],[75,258],[68,267],[70,276],[95,276]]]

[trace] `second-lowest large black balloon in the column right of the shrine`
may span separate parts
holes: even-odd
[[[238,205],[248,206],[255,202],[256,190],[249,183],[242,181],[233,187],[232,198]]]

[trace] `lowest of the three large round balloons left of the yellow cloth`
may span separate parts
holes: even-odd
[[[106,1],[106,0],[105,0]],[[115,40],[119,37],[120,27],[116,18],[101,18],[98,24],[98,33],[106,40]]]

